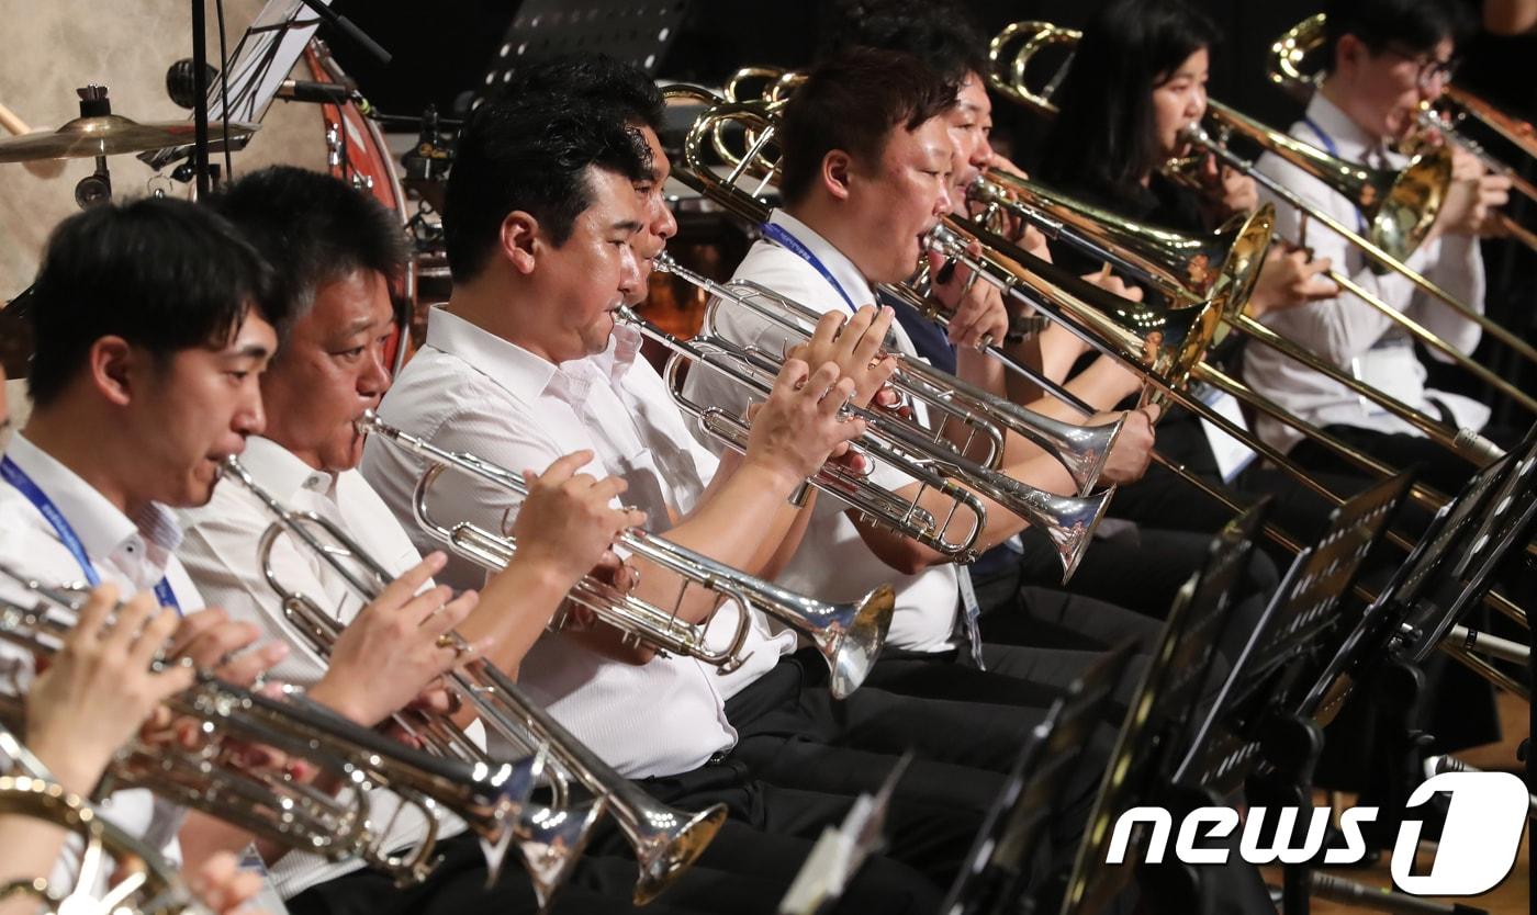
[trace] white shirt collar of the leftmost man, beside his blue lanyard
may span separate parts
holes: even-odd
[[[11,439],[6,456],[52,500],[92,562],[115,554],[135,536],[166,551],[181,545],[181,527],[166,507],[151,502],[135,517],[128,517],[80,474],[20,433]]]

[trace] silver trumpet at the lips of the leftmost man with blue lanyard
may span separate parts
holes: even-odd
[[[377,559],[335,525],[310,513],[295,513],[284,508],[263,490],[235,458],[226,459],[224,476],[238,481],[251,490],[274,514],[275,520],[261,540],[261,563],[267,582],[283,597],[284,608],[314,616],[314,631],[326,629],[317,639],[317,651],[327,654],[340,634],[335,619],[320,609],[307,596],[294,594],[281,586],[272,567],[272,547],[280,534],[287,534],[306,550],[310,550],[364,602],[373,600],[395,579]],[[326,543],[321,536],[327,537]],[[309,631],[309,629],[306,629]],[[450,636],[456,648],[467,648],[458,636]],[[599,758],[549,712],[539,708],[515,680],[484,659],[473,659],[446,677],[460,697],[481,717],[487,728],[520,746],[544,748],[558,766],[559,778],[569,775],[583,785],[596,800],[569,803],[564,791],[558,791],[558,803],[546,811],[526,811],[516,824],[515,843],[529,869],[535,895],[543,909],[553,901],[555,892],[570,875],[581,857],[592,827],[603,812],[613,815],[619,831],[629,840],[639,864],[635,884],[636,904],[649,903],[667,889],[704,852],[725,821],[725,806],[690,814],[658,803],[636,785],[624,778],[609,763]],[[461,735],[463,737],[463,735]],[[458,751],[473,748],[467,737],[455,740]],[[429,740],[429,746],[437,746]],[[483,754],[481,754],[483,755]],[[564,800],[566,803],[559,803]],[[473,824],[473,823],[472,823]]]

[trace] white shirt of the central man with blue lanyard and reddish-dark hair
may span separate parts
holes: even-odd
[[[845,295],[855,306],[875,301],[870,282],[859,273],[853,261],[832,243],[784,210],[775,210],[768,221],[782,226],[799,239],[822,263],[842,293],[799,255],[767,239],[753,244],[747,258],[732,275],[733,281],[753,281],[818,312],[845,310],[848,307],[844,301]],[[715,329],[738,344],[756,345],[768,353],[782,353],[799,342],[779,325],[750,315],[745,309],[719,301],[710,302],[710,307],[713,309]],[[918,356],[913,341],[901,324],[893,322],[891,333],[904,353]],[[732,413],[741,413],[749,402],[741,385],[716,372],[698,367],[689,372],[684,390],[698,401],[719,405]],[[698,434],[710,447],[718,447],[702,430]],[[911,482],[901,471],[879,462],[870,479],[888,490],[899,490]],[[936,565],[916,576],[898,573],[865,545],[859,528],[848,519],[847,510],[847,504],[828,497],[827,493],[818,496],[816,510],[810,525],[807,525],[801,548],[779,576],[779,583],[792,591],[822,600],[853,600],[871,588],[890,583],[896,590],[896,614],[891,619],[887,643],[913,651],[953,648],[951,633],[961,606],[956,567],[953,563]]]

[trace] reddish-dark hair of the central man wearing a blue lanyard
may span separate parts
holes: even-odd
[[[893,129],[916,130],[954,106],[958,91],[908,54],[848,48],[828,57],[785,104],[779,192],[787,203],[802,200],[835,149],[878,161]]]

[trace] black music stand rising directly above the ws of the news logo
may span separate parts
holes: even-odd
[[[1200,804],[1247,786],[1253,803],[1310,806],[1323,734],[1317,723],[1296,712],[1299,692],[1313,685],[1313,672],[1345,639],[1340,599],[1382,540],[1409,485],[1411,476],[1405,473],[1357,494],[1330,514],[1319,543],[1297,556],[1217,702],[1196,723],[1171,772],[1173,792]],[[1310,884],[1305,864],[1286,866],[1288,915],[1306,912]]]

